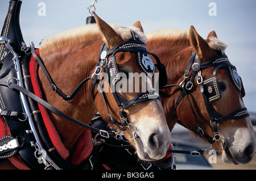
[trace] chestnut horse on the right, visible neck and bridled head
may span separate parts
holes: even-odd
[[[179,86],[161,90],[170,131],[180,120],[215,150],[222,150],[225,163],[250,162],[255,135],[242,100],[241,78],[224,53],[226,45],[214,31],[204,40],[193,26],[189,31],[150,32],[147,38],[147,48],[166,66],[168,84],[183,86],[189,98]]]

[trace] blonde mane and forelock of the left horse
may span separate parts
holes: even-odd
[[[144,33],[139,31],[139,28],[137,27],[124,28],[119,27],[117,24],[112,24],[110,26],[124,41],[128,41],[132,38],[129,28],[134,30],[144,43],[147,41]],[[88,46],[94,43],[94,41],[101,39],[102,37],[97,24],[86,24],[44,39],[40,45],[40,56],[45,57],[53,52],[63,51],[67,47],[76,48],[78,45]]]

